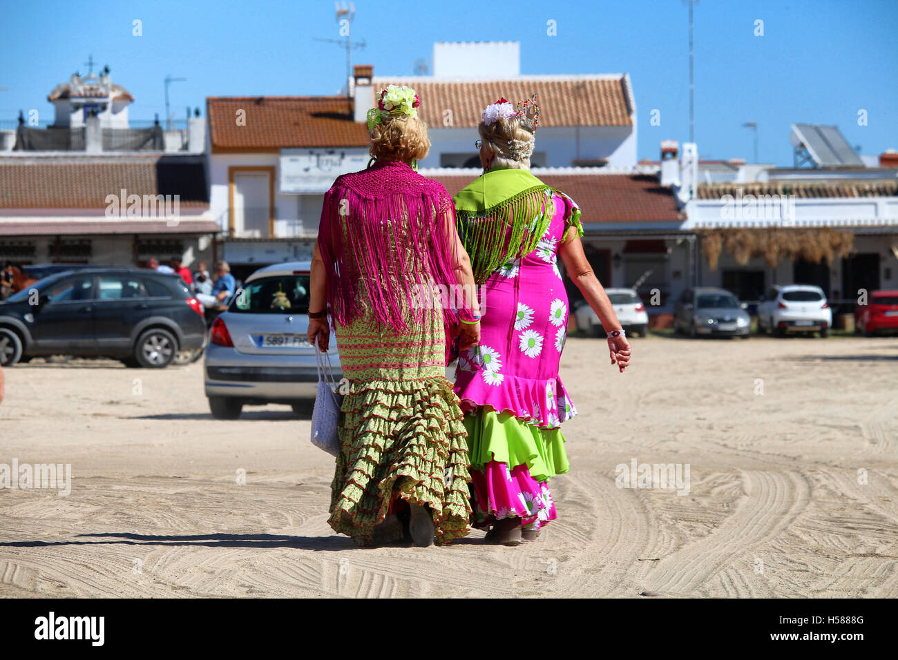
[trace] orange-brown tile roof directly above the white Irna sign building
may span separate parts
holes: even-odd
[[[210,96],[206,106],[213,152],[371,144],[345,96]],[[237,110],[246,111],[246,126],[234,120]]]

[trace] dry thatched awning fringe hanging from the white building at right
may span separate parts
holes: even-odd
[[[770,229],[702,229],[701,251],[708,258],[711,269],[718,268],[721,252],[733,254],[740,266],[753,257],[761,257],[770,268],[776,268],[783,258],[804,259],[812,263],[826,263],[849,254],[854,249],[854,233],[820,227],[798,229],[771,227]]]

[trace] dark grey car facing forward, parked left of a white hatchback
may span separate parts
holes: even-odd
[[[674,306],[674,332],[693,338],[716,335],[748,339],[752,320],[744,307],[726,289],[688,288]]]

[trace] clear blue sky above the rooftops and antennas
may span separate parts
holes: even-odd
[[[411,75],[434,41],[518,40],[521,72],[629,73],[638,111],[638,157],[662,139],[689,136],[688,7],[683,0],[545,3],[357,0],[354,64],[375,75]],[[132,22],[143,36],[132,36]],[[755,36],[755,21],[764,35]],[[547,35],[547,21],[558,34]],[[131,119],[205,114],[207,96],[329,94],[343,85],[344,50],[334,3],[4,2],[0,119],[36,108],[92,54],[136,101]],[[898,0],[700,0],[695,6],[695,137],[703,158],[753,160],[745,121],[759,126],[760,160],[788,166],[792,122],[835,124],[863,154],[898,148]],[[661,125],[650,126],[652,110]],[[867,110],[867,126],[858,126]],[[4,121],[4,123],[5,123]]]

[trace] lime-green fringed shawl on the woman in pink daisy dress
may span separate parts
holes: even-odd
[[[528,170],[501,169],[484,173],[455,195],[458,233],[477,284],[536,248],[554,215],[556,192]],[[575,213],[581,232],[576,205]]]

